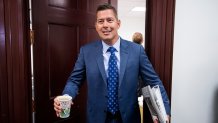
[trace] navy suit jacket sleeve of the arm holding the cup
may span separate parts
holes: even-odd
[[[67,80],[67,83],[65,85],[62,94],[68,94],[74,99],[78,94],[79,87],[81,86],[81,84],[85,79],[85,74],[86,74],[86,67],[84,62],[83,48],[81,48],[74,69]]]

